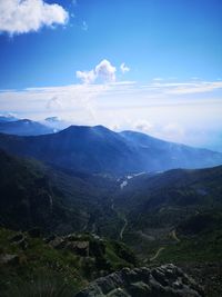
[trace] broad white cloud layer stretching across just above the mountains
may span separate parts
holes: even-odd
[[[95,68],[92,72],[95,73]],[[0,112],[13,111],[19,118],[36,120],[58,116],[74,125],[132,129],[188,145],[212,148],[216,145],[218,149],[221,147],[222,89],[215,82],[219,81],[196,82],[199,91],[203,85],[208,88],[194,96],[169,93],[176,88],[193,87],[192,82],[140,86],[133,81],[115,81],[0,90]]]

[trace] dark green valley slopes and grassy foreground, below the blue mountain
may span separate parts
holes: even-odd
[[[69,296],[122,267],[222,261],[222,167],[142,175],[121,190],[111,176],[4,151],[0,164],[3,297]]]

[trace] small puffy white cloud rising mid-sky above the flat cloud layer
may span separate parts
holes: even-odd
[[[81,79],[83,83],[99,82],[114,82],[117,68],[108,60],[102,60],[94,69],[90,71],[77,71],[77,78]]]

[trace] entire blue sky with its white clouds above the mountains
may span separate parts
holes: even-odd
[[[222,151],[221,0],[0,0],[0,113]]]

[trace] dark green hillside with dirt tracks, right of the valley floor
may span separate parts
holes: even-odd
[[[148,263],[221,259],[221,166],[130,179],[114,200],[128,221],[123,240]]]

